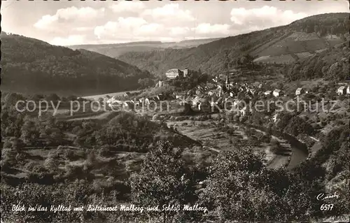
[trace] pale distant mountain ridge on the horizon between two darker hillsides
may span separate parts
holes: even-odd
[[[109,57],[118,58],[127,52],[148,52],[152,50],[165,50],[167,48],[192,48],[197,45],[217,41],[220,38],[203,38],[193,39],[180,42],[161,42],[161,41],[141,41],[130,43],[113,43],[113,44],[87,44],[87,45],[69,45],[68,48],[73,50],[84,49],[99,52]]]

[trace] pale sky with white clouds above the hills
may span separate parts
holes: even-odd
[[[349,13],[325,1],[1,1],[3,31],[52,45],[183,41],[235,36],[321,13]]]

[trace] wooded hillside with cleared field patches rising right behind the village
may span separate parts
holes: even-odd
[[[119,59],[162,75],[167,69],[201,69],[216,74],[225,69],[225,55],[235,68],[237,59],[249,54],[255,62],[288,64],[344,43],[349,38],[349,13],[328,13],[297,20],[249,34],[230,36],[190,49],[128,52]]]

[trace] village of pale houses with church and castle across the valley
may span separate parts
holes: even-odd
[[[165,73],[167,80],[159,80],[153,89],[167,89],[169,81],[176,78],[186,78],[190,75],[187,68],[184,70],[170,69]],[[251,71],[252,72],[252,71]],[[238,73],[238,74],[237,74]],[[341,99],[350,96],[349,83],[333,84],[329,82],[318,82],[316,86],[302,87],[298,83],[294,88],[283,87],[281,83],[277,84],[280,88],[273,87],[271,82],[234,82],[230,81],[239,72],[226,73],[225,75],[216,75],[209,79],[208,82],[197,85],[193,89],[181,90],[174,92],[164,91],[159,94],[147,92],[146,95],[140,93],[126,92],[123,96],[106,96],[106,103],[109,108],[124,108],[125,110],[137,110],[140,106],[151,106],[154,103],[180,101],[188,103],[193,110],[204,113],[217,113],[218,110],[237,111],[237,115],[245,116],[249,114],[246,104],[249,101],[276,101],[281,100],[286,103],[288,100],[304,100],[310,107],[313,103],[325,99],[326,101]],[[140,97],[141,95],[141,97]],[[99,99],[103,101],[103,99]],[[168,104],[169,106],[169,104]],[[149,108],[149,107],[148,107]],[[160,106],[159,108],[162,108]],[[277,114],[274,114],[276,120]]]

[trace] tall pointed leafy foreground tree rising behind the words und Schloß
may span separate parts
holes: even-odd
[[[193,182],[186,175],[188,171],[181,159],[181,152],[169,142],[158,143],[146,155],[140,173],[130,178],[133,203],[144,207],[159,206],[160,211],[148,212],[148,217],[153,215],[162,218],[162,222],[174,222],[179,213],[162,210],[163,206],[176,208],[190,202],[194,193]]]

